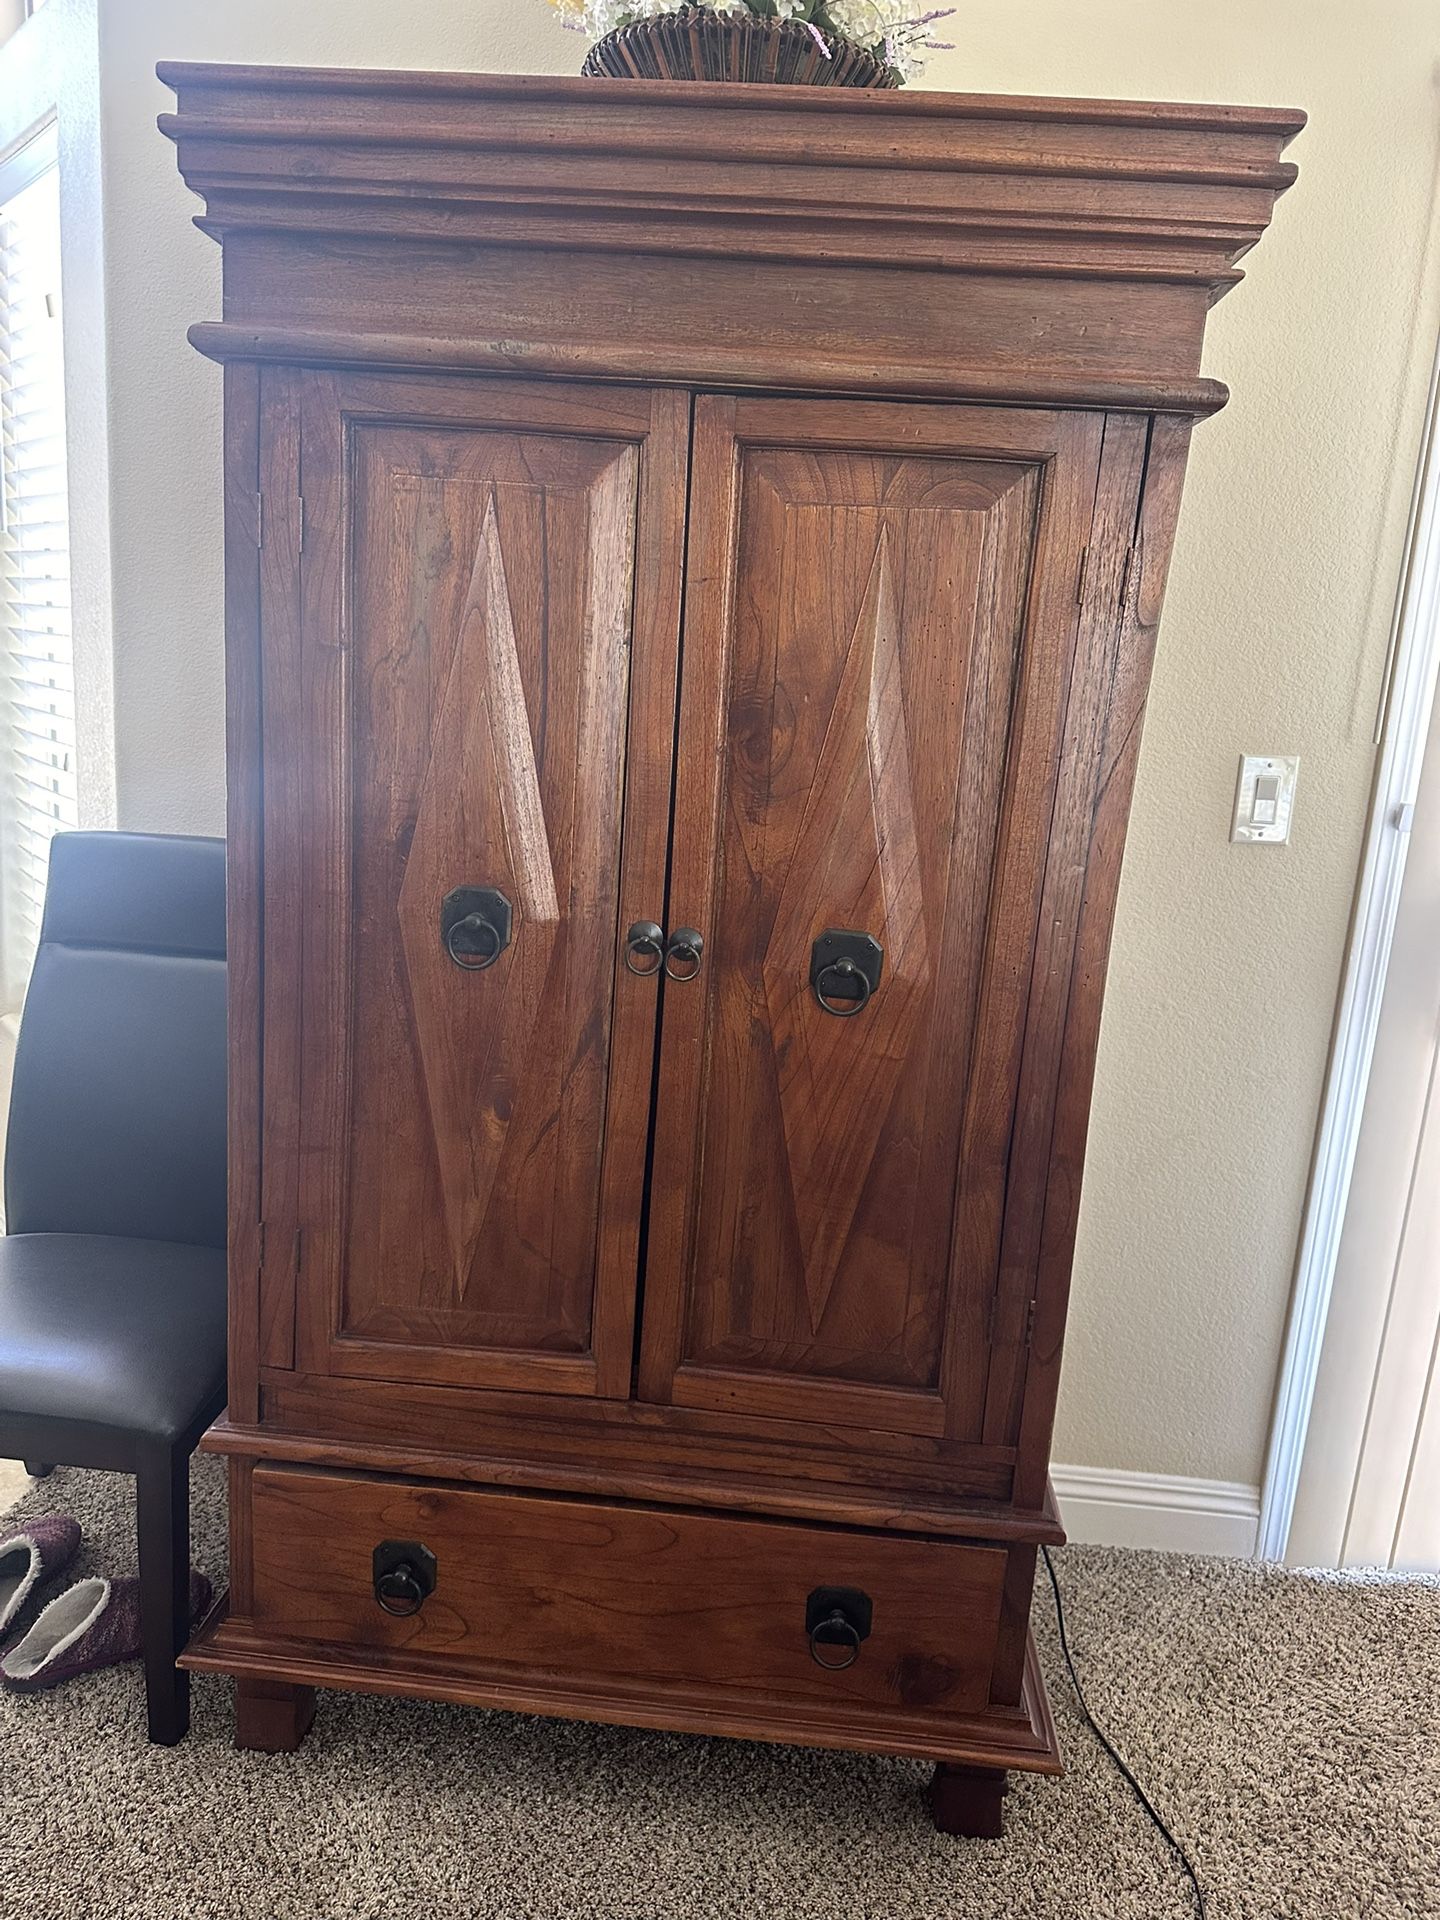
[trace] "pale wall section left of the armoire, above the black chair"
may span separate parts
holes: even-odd
[[[200,204],[156,132],[175,106],[156,61],[566,71],[582,50],[541,0],[125,0],[102,12],[123,826],[225,826],[221,376],[184,338],[219,317],[219,248],[190,225]]]

